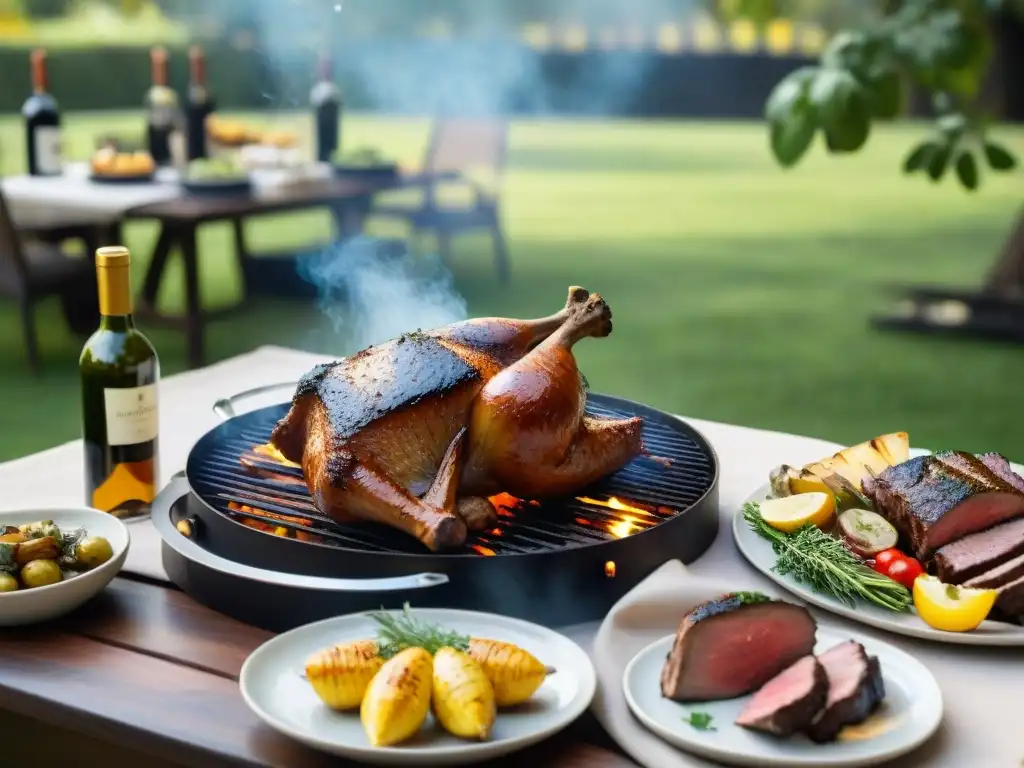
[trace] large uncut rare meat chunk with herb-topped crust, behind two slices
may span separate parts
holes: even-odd
[[[816,631],[807,608],[763,595],[701,603],[679,625],[662,669],[662,694],[710,701],[750,693],[811,653]]]

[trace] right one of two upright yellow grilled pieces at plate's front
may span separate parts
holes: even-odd
[[[498,716],[495,689],[483,668],[468,653],[438,648],[434,653],[434,716],[453,736],[484,740]]]

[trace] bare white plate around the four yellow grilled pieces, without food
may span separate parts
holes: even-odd
[[[328,618],[279,635],[246,659],[239,677],[246,703],[270,727],[310,746],[378,765],[462,765],[494,759],[541,741],[569,725],[594,696],[594,667],[584,650],[557,632],[517,618],[447,608],[413,608],[424,621],[466,635],[515,643],[554,667],[527,703],[499,710],[488,741],[444,733],[428,716],[420,733],[396,746],[372,746],[358,712],[328,709],[303,679],[306,659],[335,643],[376,636],[369,613]]]

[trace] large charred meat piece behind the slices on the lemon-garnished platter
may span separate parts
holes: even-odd
[[[961,452],[889,467],[864,490],[923,560],[950,542],[1024,516],[1024,494]]]

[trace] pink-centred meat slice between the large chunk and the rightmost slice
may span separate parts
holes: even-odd
[[[754,694],[736,725],[775,736],[807,728],[828,698],[828,676],[807,655],[782,670]]]

